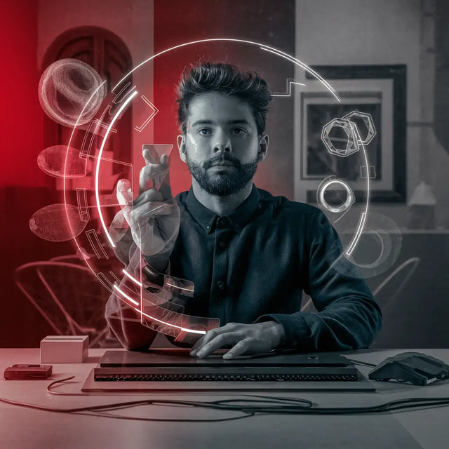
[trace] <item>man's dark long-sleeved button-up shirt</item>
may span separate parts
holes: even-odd
[[[283,326],[286,346],[311,351],[373,342],[380,309],[321,210],[255,186],[222,217],[192,189],[176,199],[181,225],[170,274],[195,286],[194,297],[176,300],[185,314],[217,317],[221,326],[273,320]],[[303,291],[316,312],[300,311]]]

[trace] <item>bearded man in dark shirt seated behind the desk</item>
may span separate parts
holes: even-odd
[[[159,189],[149,188],[168,163],[166,156],[154,163],[145,150],[140,195],[132,210],[124,209],[130,232],[116,253],[127,271],[136,272],[142,253],[153,269],[194,282],[194,297],[182,300],[185,314],[220,319],[219,328],[194,344],[192,356],[222,347],[231,347],[225,358],[279,346],[358,349],[368,347],[382,323],[365,281],[349,276],[354,267],[340,257],[340,239],[321,210],[253,185],[267,156],[270,100],[257,75],[220,63],[193,67],[177,100],[177,143],[192,187],[176,199],[167,178]],[[119,185],[119,194],[129,200],[127,188]],[[346,271],[335,269],[337,260]],[[302,290],[316,313],[300,311]],[[156,334],[115,294],[106,318],[128,349],[148,348]]]

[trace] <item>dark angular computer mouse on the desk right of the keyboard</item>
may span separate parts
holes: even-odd
[[[397,380],[428,385],[449,377],[449,365],[421,352],[403,352],[386,358],[368,373],[370,380]]]

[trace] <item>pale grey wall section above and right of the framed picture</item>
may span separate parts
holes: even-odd
[[[420,15],[420,0],[297,0],[296,57],[307,65],[406,64],[407,121],[420,121]],[[419,143],[420,128],[408,126],[409,197],[420,180]],[[407,225],[406,205],[372,210]]]

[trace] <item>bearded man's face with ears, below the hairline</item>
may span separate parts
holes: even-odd
[[[267,136],[257,135],[253,112],[246,102],[208,92],[197,95],[189,105],[180,154],[201,189],[227,196],[240,192],[253,180],[267,144]]]

